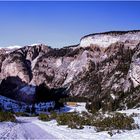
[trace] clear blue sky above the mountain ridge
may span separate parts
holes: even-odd
[[[0,2],[0,46],[78,44],[82,36],[140,29],[140,2]]]

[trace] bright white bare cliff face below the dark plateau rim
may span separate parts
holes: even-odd
[[[90,45],[98,45],[103,48],[109,47],[112,43],[116,42],[133,42],[138,43],[140,41],[140,32],[125,33],[121,35],[109,35],[109,34],[98,34],[84,37],[81,42],[81,47],[87,47]]]

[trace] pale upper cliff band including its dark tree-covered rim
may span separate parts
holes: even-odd
[[[107,48],[116,42],[124,43],[139,43],[140,32],[139,30],[133,31],[112,31],[105,33],[96,33],[84,36],[81,39],[80,46],[87,47],[91,44],[99,45],[100,47]]]

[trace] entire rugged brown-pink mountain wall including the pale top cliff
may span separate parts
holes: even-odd
[[[0,76],[18,76],[23,82],[18,91],[45,83],[50,89],[65,87],[71,96],[105,103],[117,100],[126,106],[125,101],[139,94],[139,43],[140,31],[119,31],[88,35],[79,45],[61,49],[25,46],[1,53]]]

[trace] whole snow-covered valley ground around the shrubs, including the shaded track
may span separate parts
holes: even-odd
[[[64,111],[86,111],[85,103],[75,107],[67,106]],[[134,120],[140,126],[140,108],[120,111],[128,115],[137,113]],[[55,120],[43,122],[37,117],[17,117],[17,123],[1,122],[0,139],[60,139],[60,140],[140,140],[140,129],[126,130],[114,134],[96,132],[95,127],[85,126],[84,129],[70,129],[67,126],[58,126]]]

